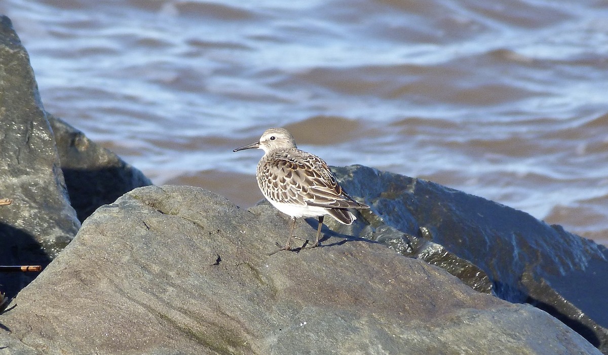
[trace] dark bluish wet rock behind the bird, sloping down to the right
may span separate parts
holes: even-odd
[[[422,228],[427,239],[488,275],[500,298],[539,306],[608,354],[606,247],[434,182],[356,165],[333,170],[350,195],[372,204],[358,225],[330,221],[337,232],[374,238],[388,226],[402,233],[405,245]],[[451,260],[435,264],[453,267]],[[465,272],[463,281],[477,284],[479,276]]]

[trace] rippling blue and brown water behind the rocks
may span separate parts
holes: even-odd
[[[47,111],[153,182],[261,199],[284,126],[608,244],[608,3],[3,0]]]

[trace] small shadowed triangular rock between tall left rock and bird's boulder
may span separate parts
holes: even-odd
[[[55,133],[67,192],[80,221],[127,191],[152,185],[141,171],[92,142],[78,129],[52,115],[48,118]]]

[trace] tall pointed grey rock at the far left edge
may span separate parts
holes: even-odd
[[[46,265],[74,238],[80,222],[69,204],[53,131],[29,56],[0,16],[0,260]],[[0,273],[12,297],[37,273]]]

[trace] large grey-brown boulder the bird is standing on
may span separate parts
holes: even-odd
[[[137,188],[19,293],[0,354],[599,354],[545,312],[373,241],[266,256],[288,225],[201,188]]]

